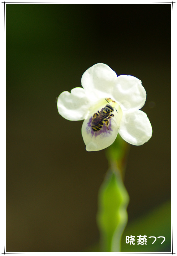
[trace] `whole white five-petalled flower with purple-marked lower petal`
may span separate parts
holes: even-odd
[[[65,119],[84,120],[82,137],[87,151],[102,150],[110,146],[118,133],[132,145],[142,145],[151,138],[150,121],[139,110],[145,104],[146,91],[138,78],[117,76],[106,64],[97,63],[84,72],[81,84],[83,88],[76,87],[71,93],[61,93],[57,106],[59,114]],[[106,105],[109,108],[109,104],[114,110],[110,114],[114,116],[101,111]],[[98,111],[101,112],[98,114]],[[106,114],[109,119],[104,119]],[[103,120],[103,126],[98,131],[92,129],[93,119]]]

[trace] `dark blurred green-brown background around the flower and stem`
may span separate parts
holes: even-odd
[[[122,250],[171,250],[171,4],[6,4],[6,251],[96,250],[105,150],[85,150],[56,97],[99,62],[142,80],[153,127],[130,149]],[[135,248],[130,235],[166,241]]]

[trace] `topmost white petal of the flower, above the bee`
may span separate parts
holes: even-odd
[[[88,97],[95,101],[111,97],[116,80],[117,75],[109,66],[97,63],[84,72],[81,84]]]

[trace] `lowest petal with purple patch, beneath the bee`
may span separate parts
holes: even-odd
[[[82,124],[82,137],[86,145],[86,150],[97,151],[105,149],[109,147],[117,137],[122,111],[120,108],[118,113],[114,111],[114,116],[109,119],[109,130],[106,128],[106,124],[104,124],[99,131],[94,132],[91,127],[92,117],[93,115],[89,115]]]

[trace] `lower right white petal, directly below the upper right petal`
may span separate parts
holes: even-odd
[[[120,136],[132,145],[143,145],[152,136],[152,126],[147,115],[141,111],[123,113]]]

